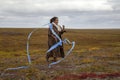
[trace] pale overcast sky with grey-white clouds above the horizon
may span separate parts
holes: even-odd
[[[66,28],[120,28],[120,0],[0,0],[0,28],[47,28],[53,16]]]

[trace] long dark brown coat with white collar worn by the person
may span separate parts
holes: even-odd
[[[65,32],[65,30],[61,26],[59,26],[59,29],[58,29],[58,27],[56,27],[54,25],[53,25],[53,30],[62,39],[61,35]],[[48,48],[52,47],[57,42],[59,42],[59,40],[52,33],[52,31],[50,29],[48,29]],[[47,58],[49,58],[49,57],[54,57],[54,58],[62,57],[63,58],[64,57],[63,45],[62,46],[58,46],[57,48],[55,48],[54,50],[49,52],[48,55],[47,55]]]

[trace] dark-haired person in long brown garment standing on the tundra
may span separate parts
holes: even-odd
[[[55,23],[57,26],[55,26],[53,24],[53,30],[54,32],[62,39],[62,35],[65,31],[65,26],[63,25],[63,27],[61,27],[60,25],[58,25],[58,17],[53,17],[50,19],[50,23]],[[59,42],[59,40],[57,39],[57,37],[52,33],[52,31],[50,30],[50,28],[48,29],[48,48],[50,49],[54,44],[56,44],[57,42]],[[46,55],[46,59],[49,62],[49,58],[52,57],[53,61],[57,61],[57,57],[61,57],[64,58],[65,54],[64,54],[64,48],[63,48],[63,43],[62,46],[58,46],[57,48],[53,49],[52,51],[50,51],[47,55]]]

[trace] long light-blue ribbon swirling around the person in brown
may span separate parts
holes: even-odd
[[[73,50],[74,47],[75,47],[75,42],[74,42],[74,41],[73,41],[73,42],[70,42],[68,39],[61,40],[61,38],[60,38],[60,37],[55,33],[55,31],[53,30],[53,24],[54,24],[54,23],[48,23],[48,24],[45,24],[45,25],[43,25],[43,26],[49,25],[50,30],[51,30],[52,33],[56,36],[56,38],[58,38],[59,42],[57,42],[55,45],[53,45],[53,46],[46,52],[46,55],[47,55],[48,52],[52,51],[53,49],[57,48],[58,46],[61,46],[62,43],[64,43],[64,44],[71,44],[72,47],[71,47],[71,49],[66,53],[66,55],[65,55],[64,58],[62,58],[62,59],[60,59],[60,60],[58,60],[58,61],[56,61],[56,62],[50,63],[49,66],[48,66],[49,68],[51,68],[52,65],[58,64],[58,63],[60,63],[61,61],[63,61],[63,60],[72,52],[72,50]],[[55,24],[54,24],[54,25],[55,25]],[[56,26],[56,25],[55,25],[55,26]],[[27,47],[26,47],[26,50],[27,50],[27,58],[28,58],[28,63],[29,63],[29,64],[32,64],[31,57],[30,57],[30,52],[29,52],[30,37],[31,37],[32,34],[33,34],[36,30],[38,30],[38,29],[39,29],[39,28],[36,28],[36,29],[32,30],[32,31],[29,33],[28,37],[27,37]],[[7,69],[4,70],[3,73],[1,73],[0,76],[3,76],[7,70],[26,69],[26,68],[29,68],[29,67],[30,67],[30,66],[20,66],[20,67],[16,67],[16,68],[7,68]]]

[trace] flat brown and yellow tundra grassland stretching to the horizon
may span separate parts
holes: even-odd
[[[0,29],[0,80],[120,80],[120,29],[67,30],[63,38],[75,41],[76,46],[50,69],[45,60],[47,29],[38,29],[31,36],[32,64],[28,64],[26,42],[32,30]],[[65,52],[70,47],[64,45]],[[30,67],[5,71],[25,65]]]

